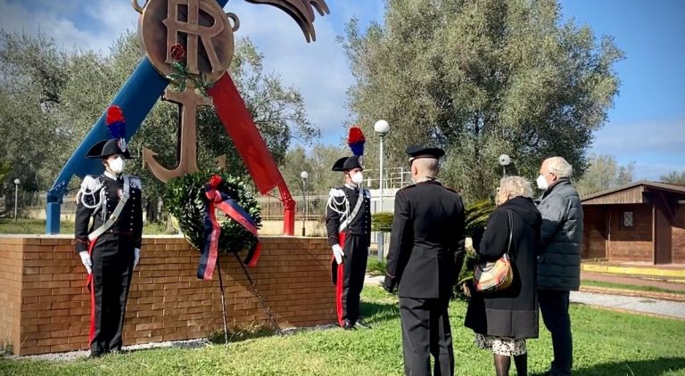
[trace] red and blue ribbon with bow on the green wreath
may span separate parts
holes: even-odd
[[[224,214],[233,219],[238,224],[255,237],[257,242],[252,246],[252,249],[247,253],[243,260],[243,264],[247,266],[256,266],[257,260],[260,257],[261,245],[259,241],[259,234],[257,233],[257,225],[254,219],[250,217],[243,208],[238,205],[235,200],[231,199],[226,193],[217,189],[221,184],[221,176],[211,176],[210,182],[204,186],[204,194],[209,200],[207,206],[204,208],[204,245],[202,246],[202,255],[200,256],[200,265],[197,266],[197,278],[208,281],[214,275],[214,267],[217,264],[217,257],[219,256],[219,237],[221,235],[221,224],[217,220],[216,209],[219,208]]]

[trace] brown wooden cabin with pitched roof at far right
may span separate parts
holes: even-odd
[[[639,181],[582,198],[582,258],[685,264],[685,185]]]

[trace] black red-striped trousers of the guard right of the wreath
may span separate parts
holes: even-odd
[[[368,236],[341,234],[345,256],[342,257],[342,265],[337,265],[333,260],[334,283],[336,285],[336,307],[338,310],[338,323],[350,325],[357,323],[359,319],[359,295],[364,288],[364,277],[367,274]],[[342,286],[338,286],[342,277]]]

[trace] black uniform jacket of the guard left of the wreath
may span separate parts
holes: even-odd
[[[88,206],[94,206],[96,202],[100,201],[101,191],[104,190],[105,204],[97,208],[87,208],[81,201],[81,197],[78,198],[75,221],[77,252],[88,250],[88,233],[100,228],[107,221],[111,213],[114,212],[114,208],[119,204],[120,197],[124,192],[123,177],[119,177],[117,180],[105,175],[93,178],[102,185],[92,195],[87,194],[83,200],[87,202]],[[143,234],[143,208],[140,201],[141,185],[140,180],[133,176],[128,176],[128,182],[130,188],[126,206],[124,206],[119,218],[114,222],[114,225],[111,225],[107,232],[131,236],[134,247],[139,249]],[[92,225],[90,225],[90,217],[93,217]]]

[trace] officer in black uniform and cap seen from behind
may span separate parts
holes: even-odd
[[[439,148],[411,146],[410,184],[395,195],[385,290],[399,286],[404,370],[454,373],[447,308],[464,255],[464,204],[436,178]]]

